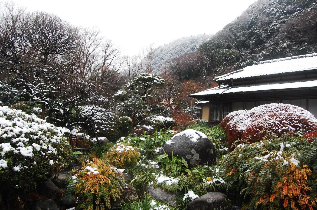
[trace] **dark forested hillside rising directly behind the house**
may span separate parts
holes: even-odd
[[[317,51],[317,4],[314,0],[259,0],[214,37],[172,60],[181,80],[221,75],[254,61]]]

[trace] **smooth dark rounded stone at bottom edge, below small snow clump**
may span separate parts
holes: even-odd
[[[210,192],[189,202],[187,206],[187,210],[209,209],[229,210],[227,196],[220,192]]]

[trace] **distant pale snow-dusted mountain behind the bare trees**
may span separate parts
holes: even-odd
[[[152,60],[152,72],[160,74],[160,72],[165,69],[165,64],[168,67],[168,63],[173,57],[196,51],[199,45],[209,40],[212,36],[211,34],[198,34],[195,36],[182,37],[175,39],[169,44],[155,48],[155,54]]]

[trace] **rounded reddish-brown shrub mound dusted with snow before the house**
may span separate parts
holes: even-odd
[[[228,135],[228,147],[231,147],[237,139],[254,142],[268,132],[281,136],[287,132],[315,131],[317,120],[309,111],[295,105],[265,104],[249,111],[230,113],[221,122],[221,127],[224,127]]]

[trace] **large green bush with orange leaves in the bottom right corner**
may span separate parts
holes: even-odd
[[[221,159],[227,190],[244,195],[248,209],[315,209],[316,143],[284,135],[238,145]]]

